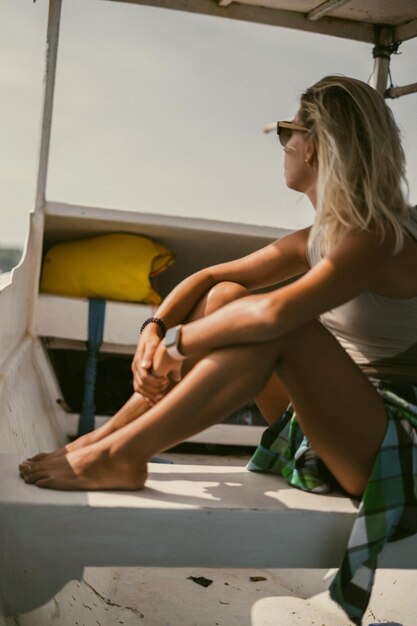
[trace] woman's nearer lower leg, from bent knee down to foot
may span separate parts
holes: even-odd
[[[54,489],[141,488],[146,462],[155,453],[221,421],[254,397],[276,359],[272,349],[263,352],[259,346],[242,346],[208,355],[140,419],[64,456],[25,462],[22,478]],[[253,356],[262,363],[256,368]]]

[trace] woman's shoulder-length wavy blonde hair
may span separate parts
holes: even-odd
[[[372,87],[327,76],[301,97],[300,117],[318,160],[317,217],[327,251],[348,232],[392,233],[395,251],[409,219],[405,158],[391,110]]]

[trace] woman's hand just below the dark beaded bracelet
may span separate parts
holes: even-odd
[[[147,398],[150,404],[158,402],[169,385],[168,377],[155,374],[153,370],[155,352],[161,345],[161,339],[158,327],[149,324],[140,337],[132,362],[133,388]]]

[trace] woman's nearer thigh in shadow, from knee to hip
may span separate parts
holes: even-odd
[[[375,387],[319,322],[279,340],[277,374],[316,452],[361,495],[387,427]]]

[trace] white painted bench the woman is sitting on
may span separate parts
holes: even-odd
[[[0,559],[6,615],[49,601],[85,567],[332,568],[357,503],[313,495],[243,466],[149,464],[136,492],[60,492],[26,485],[21,457],[0,455]],[[415,538],[381,566],[415,568]]]

